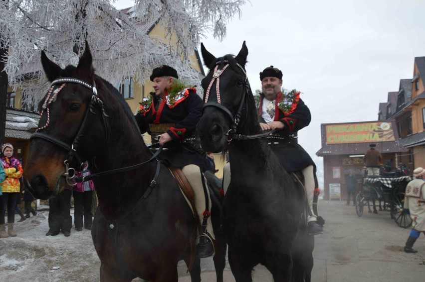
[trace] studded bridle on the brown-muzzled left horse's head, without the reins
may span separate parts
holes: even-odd
[[[65,86],[66,83],[79,84],[79,85],[82,85],[82,86],[86,87],[87,89],[89,89],[93,92],[93,94],[90,98],[90,103],[89,103],[89,106],[87,107],[84,119],[83,119],[83,121],[80,125],[80,128],[78,129],[78,133],[77,133],[77,135],[75,135],[74,141],[72,141],[71,145],[69,145],[69,144],[67,144],[67,143],[65,143],[65,142],[63,142],[63,141],[61,141],[61,140],[59,140],[55,137],[52,137],[50,135],[47,135],[47,134],[44,134],[44,133],[41,133],[41,132],[37,132],[38,130],[44,129],[48,126],[49,118],[50,118],[48,106],[49,106],[50,103],[52,103],[54,101],[55,95],[57,95],[60,92],[60,90]],[[62,86],[59,89],[57,89],[55,91],[55,93],[53,94],[53,96],[50,98],[50,94],[52,93],[54,86],[57,85],[57,84],[62,84]],[[78,148],[78,145],[80,144],[81,136],[82,136],[83,130],[84,130],[85,125],[86,125],[87,120],[88,120],[88,113],[91,112],[91,113],[95,114],[94,107],[96,105],[99,107],[99,109],[102,112],[103,123],[104,123],[104,126],[105,126],[105,130],[107,130],[104,117],[109,117],[109,116],[105,113],[105,110],[103,108],[103,101],[97,95],[96,83],[93,81],[93,86],[92,86],[92,85],[86,83],[85,81],[82,81],[82,80],[76,79],[76,78],[59,78],[59,79],[56,79],[56,80],[52,81],[52,83],[50,85],[50,90],[48,92],[48,95],[47,95],[46,100],[45,100],[43,107],[42,107],[42,111],[40,113],[40,117],[41,117],[44,110],[47,109],[46,125],[44,125],[43,127],[37,128],[36,132],[31,134],[31,137],[29,138],[29,140],[32,140],[34,138],[40,138],[40,139],[49,141],[49,142],[65,149],[66,151],[68,151],[68,154],[67,154],[65,160],[63,161],[63,163],[65,165],[65,173],[63,174],[63,176],[66,177],[66,181],[69,185],[75,185],[75,184],[69,182],[70,180],[72,180],[75,177],[75,169],[69,167],[71,165],[72,161],[74,160],[74,158],[77,161],[77,163],[79,164],[79,168],[81,169],[83,167],[84,162],[81,160],[80,156],[78,155],[77,148]]]

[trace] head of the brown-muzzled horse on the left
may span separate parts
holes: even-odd
[[[105,123],[89,113],[106,116],[97,94],[105,85],[95,78],[87,42],[77,67],[62,69],[44,51],[41,63],[51,87],[39,103],[40,121],[31,136],[24,183],[35,197],[46,199],[66,186],[64,176],[98,153]]]

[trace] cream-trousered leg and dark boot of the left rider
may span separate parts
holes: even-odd
[[[200,224],[200,236],[197,238],[196,255],[199,258],[207,258],[214,254],[213,225],[211,224],[211,199],[207,187],[207,181],[201,169],[196,165],[188,165],[182,168],[183,174],[188,179],[193,191],[195,209]]]

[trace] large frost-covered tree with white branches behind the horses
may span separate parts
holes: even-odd
[[[135,76],[143,82],[153,67],[175,66],[182,78],[198,83],[189,56],[200,39],[213,31],[225,36],[227,21],[240,16],[245,0],[135,0],[129,18],[112,6],[113,0],[1,0],[0,95],[7,84],[24,90],[26,104],[45,93],[40,50],[59,66],[76,65],[87,40],[98,75],[111,83]],[[161,23],[166,38],[148,36]],[[31,76],[28,79],[28,73]],[[4,91],[4,92],[3,92]],[[1,102],[0,107],[5,107]],[[5,108],[4,108],[5,112]],[[0,124],[5,123],[1,116]],[[1,126],[1,125],[0,125]],[[4,130],[0,132],[4,138]],[[1,139],[0,136],[0,139]]]

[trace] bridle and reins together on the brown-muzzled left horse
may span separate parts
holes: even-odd
[[[87,89],[89,89],[93,92],[91,99],[90,99],[89,106],[87,107],[83,122],[81,123],[80,128],[78,130],[78,133],[75,136],[74,141],[72,142],[71,145],[69,145],[69,144],[67,144],[67,143],[65,143],[65,142],[63,142],[63,141],[61,141],[61,140],[59,140],[55,137],[52,137],[50,135],[47,135],[47,134],[44,134],[44,133],[41,133],[41,132],[37,132],[38,130],[44,129],[48,126],[49,121],[50,121],[48,106],[49,106],[50,103],[52,103],[55,100],[56,95],[60,92],[60,90],[65,86],[66,83],[79,84],[79,85],[82,85],[82,86],[86,87]],[[62,84],[62,85],[61,85],[60,88],[54,90],[54,86],[57,85],[57,84]],[[53,95],[51,95],[52,93],[53,93]],[[84,162],[82,161],[82,159],[78,155],[77,148],[78,148],[78,145],[80,144],[80,140],[81,140],[81,137],[82,137],[83,130],[84,130],[86,124],[87,124],[89,113],[96,114],[94,112],[95,106],[97,106],[102,112],[102,119],[103,119],[105,131],[107,131],[105,117],[109,117],[109,116],[106,114],[106,112],[103,108],[103,101],[97,95],[96,84],[94,83],[94,81],[93,81],[93,86],[92,86],[92,85],[90,85],[90,84],[88,84],[88,83],[86,83],[82,80],[75,79],[75,78],[59,78],[59,79],[56,79],[56,80],[52,81],[52,83],[51,83],[50,90],[47,94],[46,100],[44,101],[44,104],[42,106],[42,111],[41,111],[41,114],[40,114],[40,117],[41,117],[43,112],[45,110],[47,111],[47,122],[43,127],[37,128],[36,132],[31,134],[31,137],[29,138],[29,140],[32,140],[34,138],[40,138],[40,139],[46,140],[50,143],[53,143],[53,144],[65,149],[66,151],[68,151],[68,155],[66,156],[65,160],[63,161],[63,163],[65,165],[65,172],[62,174],[62,176],[66,177],[66,182],[70,186],[74,186],[78,182],[89,181],[89,180],[96,178],[96,177],[102,177],[102,176],[106,176],[106,175],[117,174],[117,173],[122,173],[122,172],[138,169],[138,168],[142,167],[144,164],[156,159],[156,157],[161,153],[161,151],[163,149],[162,147],[160,147],[155,152],[155,154],[153,154],[149,158],[149,160],[147,160],[143,163],[139,163],[139,164],[133,165],[133,166],[128,166],[128,167],[115,169],[115,170],[104,171],[104,172],[100,172],[100,173],[97,173],[97,174],[92,174],[92,175],[89,175],[89,176],[77,178],[76,174],[75,174],[75,169],[72,168],[72,167],[69,167],[69,166],[71,165],[72,161],[75,159],[77,164],[80,166],[80,168],[83,167]],[[106,134],[108,134],[108,132],[106,132]],[[157,160],[157,162],[159,163],[158,160]],[[155,177],[154,177],[154,179],[152,180],[152,182],[149,186],[150,189],[148,189],[148,190],[151,190],[155,186],[156,180],[158,178],[158,174],[159,174],[159,165],[157,165],[157,172],[156,172]],[[73,179],[75,180],[75,184],[72,182]]]

